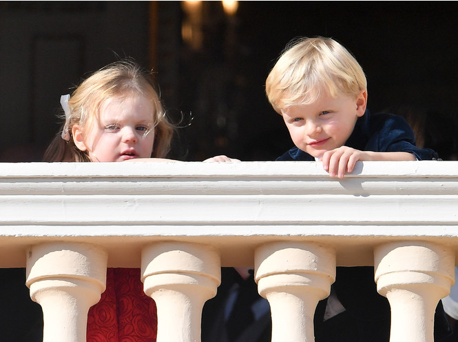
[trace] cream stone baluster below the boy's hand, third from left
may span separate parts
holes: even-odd
[[[313,342],[318,301],[335,281],[335,251],[318,243],[276,242],[255,252],[258,291],[269,301],[272,342]]]

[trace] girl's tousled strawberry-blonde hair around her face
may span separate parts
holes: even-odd
[[[98,119],[103,101],[111,97],[144,96],[154,103],[154,150],[152,157],[164,158],[170,150],[174,127],[160,103],[152,75],[134,61],[111,63],[94,72],[74,90],[68,100],[62,130],[54,138],[43,161],[90,161],[86,151],[76,147],[72,138],[73,125],[88,128]]]

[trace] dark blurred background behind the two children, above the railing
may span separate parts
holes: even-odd
[[[170,157],[273,160],[292,143],[264,81],[291,39],[317,35],[360,61],[371,112],[413,118],[419,143],[456,159],[457,14],[452,1],[0,1],[0,161],[41,160],[61,94],[124,57],[156,72],[182,121]]]

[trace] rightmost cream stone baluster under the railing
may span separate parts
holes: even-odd
[[[393,242],[374,250],[377,291],[391,305],[391,342],[433,342],[439,299],[455,279],[455,254],[424,241]]]

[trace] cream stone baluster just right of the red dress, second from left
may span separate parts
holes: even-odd
[[[157,342],[199,342],[203,305],[221,282],[219,253],[198,243],[155,243],[143,249],[141,269],[158,310]]]

